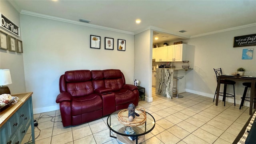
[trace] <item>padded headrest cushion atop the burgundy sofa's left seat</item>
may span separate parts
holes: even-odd
[[[65,72],[66,82],[83,82],[92,79],[90,70],[72,70]]]

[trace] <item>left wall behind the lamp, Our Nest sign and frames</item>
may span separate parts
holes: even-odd
[[[0,1],[0,12],[20,27],[19,12],[16,11],[16,9],[8,1]],[[0,30],[8,33],[9,35],[19,40],[22,40],[21,36],[16,36],[15,34],[12,34],[10,31],[6,30],[3,27],[0,27]],[[7,86],[9,87],[11,94],[26,92],[22,53],[0,49],[0,68],[10,69],[12,84]]]

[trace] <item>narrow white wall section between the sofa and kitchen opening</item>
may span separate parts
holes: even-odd
[[[139,86],[145,88],[145,100],[152,102],[152,38],[153,30],[135,35],[135,73]]]

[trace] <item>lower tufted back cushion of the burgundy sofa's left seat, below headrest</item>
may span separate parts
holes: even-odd
[[[86,82],[69,82],[66,84],[67,91],[71,96],[86,96],[94,93],[92,81]]]

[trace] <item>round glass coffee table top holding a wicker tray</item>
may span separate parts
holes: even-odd
[[[107,119],[108,128],[110,128],[110,130],[112,130],[116,134],[120,134],[122,136],[142,136],[144,134],[151,132],[155,127],[156,121],[155,121],[154,117],[151,114],[149,114],[148,112],[146,112],[146,122],[140,126],[130,126],[134,130],[135,133],[134,134],[126,134],[125,131],[128,129],[127,127],[129,127],[129,126],[125,126],[124,124],[119,122],[118,112],[120,112],[120,111],[121,110],[113,112],[112,114],[110,114],[108,116],[108,119]],[[136,118],[136,116],[135,116],[135,118]]]

